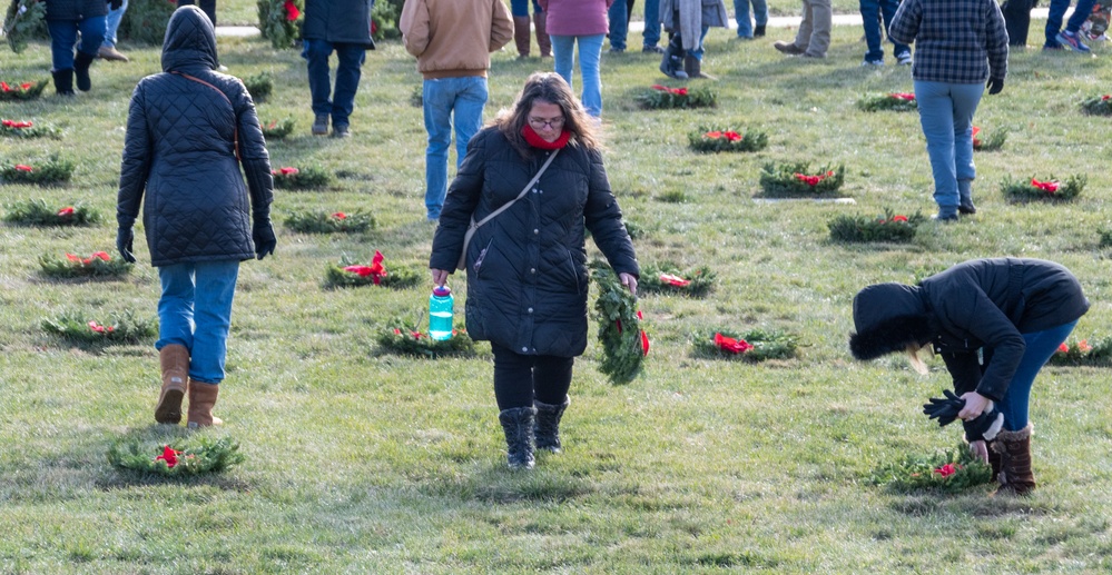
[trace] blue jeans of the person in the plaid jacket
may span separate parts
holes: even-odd
[[[972,180],[977,175],[973,165],[973,113],[985,85],[915,80],[914,86],[934,174],[934,201],[939,215],[956,214],[957,180]]]

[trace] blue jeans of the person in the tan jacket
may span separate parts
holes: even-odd
[[[447,148],[455,125],[455,168],[460,169],[468,155],[468,142],[483,126],[486,107],[486,78],[436,78],[421,87],[424,102],[425,131],[425,209],[429,219],[439,219],[447,195]]]

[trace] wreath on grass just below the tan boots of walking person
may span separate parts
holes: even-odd
[[[235,439],[204,435],[174,439],[168,444],[120,439],[108,448],[108,463],[112,467],[167,477],[219,473],[245,459]]]

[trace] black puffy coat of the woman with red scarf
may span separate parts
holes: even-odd
[[[522,159],[496,128],[468,145],[447,190],[430,267],[454,270],[463,235],[515,198],[551,152]],[[584,226],[616,272],[637,275],[633,244],[597,150],[569,143],[530,194],[479,228],[468,246],[468,333],[522,355],[587,348]]]

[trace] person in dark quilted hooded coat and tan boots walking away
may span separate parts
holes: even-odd
[[[189,427],[222,423],[213,406],[239,262],[263,259],[275,246],[274,181],[255,105],[243,82],[216,67],[213,23],[197,7],[178,8],[163,41],[163,73],[140,80],[131,95],[116,208],[116,246],[135,261],[131,227],[142,204],[161,282],[155,420],[179,423],[188,394]]]

